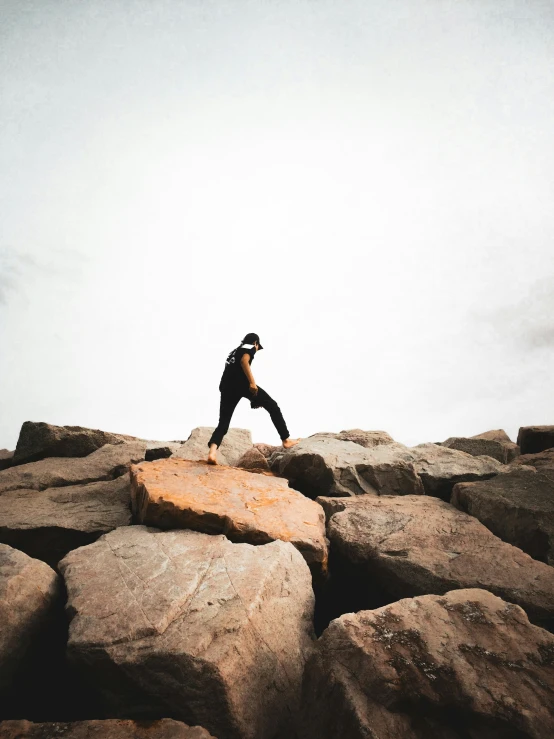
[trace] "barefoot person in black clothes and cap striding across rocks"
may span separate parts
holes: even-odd
[[[219,424],[208,442],[210,448],[209,464],[217,464],[217,448],[227,431],[229,431],[231,417],[241,398],[248,398],[252,408],[265,408],[268,411],[285,449],[290,449],[291,446],[298,444],[300,441],[300,439],[289,437],[287,424],[281,409],[263,388],[256,385],[250,365],[256,352],[260,349],[263,349],[263,346],[260,344],[258,334],[246,334],[240,346],[233,349],[227,357],[219,383],[219,390],[221,391]]]

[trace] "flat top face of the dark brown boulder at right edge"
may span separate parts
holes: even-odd
[[[491,480],[458,483],[454,499],[460,494],[471,498],[501,498],[508,504],[554,516],[554,475],[515,469]]]

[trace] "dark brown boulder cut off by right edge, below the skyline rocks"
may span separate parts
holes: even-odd
[[[452,504],[534,559],[554,565],[554,477],[520,470],[459,483]]]

